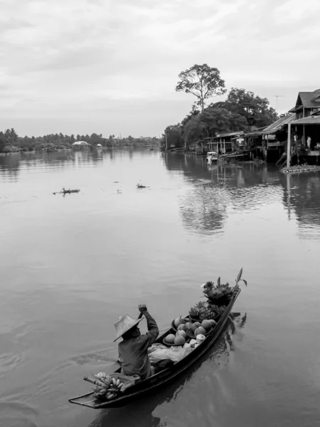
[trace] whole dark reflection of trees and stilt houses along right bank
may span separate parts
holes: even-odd
[[[230,209],[248,211],[281,203],[301,238],[320,237],[320,175],[282,174],[273,165],[206,164],[193,154],[162,155],[169,171],[181,171],[192,184],[181,196],[186,228],[198,233],[223,232]]]

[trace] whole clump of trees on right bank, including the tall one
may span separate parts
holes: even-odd
[[[176,91],[191,93],[196,96],[196,102],[181,122],[166,127],[163,146],[188,147],[218,133],[257,129],[277,120],[277,112],[267,98],[245,89],[231,88],[225,101],[206,106],[210,97],[227,92],[218,68],[196,64],[178,77]]]

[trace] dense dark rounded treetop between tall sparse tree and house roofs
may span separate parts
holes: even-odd
[[[245,89],[231,88],[225,102],[213,107],[223,107],[245,117],[248,127],[264,127],[277,120],[277,112],[270,107],[267,98],[262,98]]]

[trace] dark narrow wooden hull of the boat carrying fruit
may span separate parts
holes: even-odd
[[[240,294],[240,288],[235,288],[233,292],[233,297],[229,303],[229,305],[225,308],[223,315],[221,315],[218,320],[217,325],[213,328],[213,330],[207,335],[206,339],[198,345],[191,353],[189,353],[186,357],[181,359],[179,362],[176,362],[169,368],[164,369],[163,371],[159,371],[153,376],[150,376],[148,379],[144,379],[143,381],[139,381],[129,387],[123,394],[119,395],[116,399],[112,399],[111,401],[100,401],[95,399],[94,392],[83,394],[82,396],[74,397],[73,399],[69,399],[71,404],[87,406],[88,408],[93,409],[104,409],[104,408],[119,408],[121,406],[130,404],[132,401],[136,399],[140,399],[143,396],[149,396],[150,394],[155,393],[160,387],[166,386],[169,382],[174,381],[179,375],[186,372],[187,369],[190,369],[193,364],[198,362],[201,357],[203,357],[208,350],[213,347],[213,344],[218,341],[223,329],[225,327],[226,322],[228,321],[228,317],[233,308],[235,300]],[[175,333],[176,331],[172,329],[172,327],[164,332],[158,339],[156,339],[156,343],[163,343],[164,337],[168,334]],[[117,373],[121,371],[121,368],[117,369]],[[112,375],[112,374],[111,374]]]

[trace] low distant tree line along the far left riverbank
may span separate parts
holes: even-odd
[[[129,137],[117,138],[110,135],[108,138],[97,135],[63,135],[50,134],[43,137],[19,137],[14,128],[0,131],[0,152],[33,151],[34,149],[71,148],[75,141],[85,141],[92,147],[101,144],[102,147],[140,147],[148,144],[159,145],[160,139],[156,137]]]

